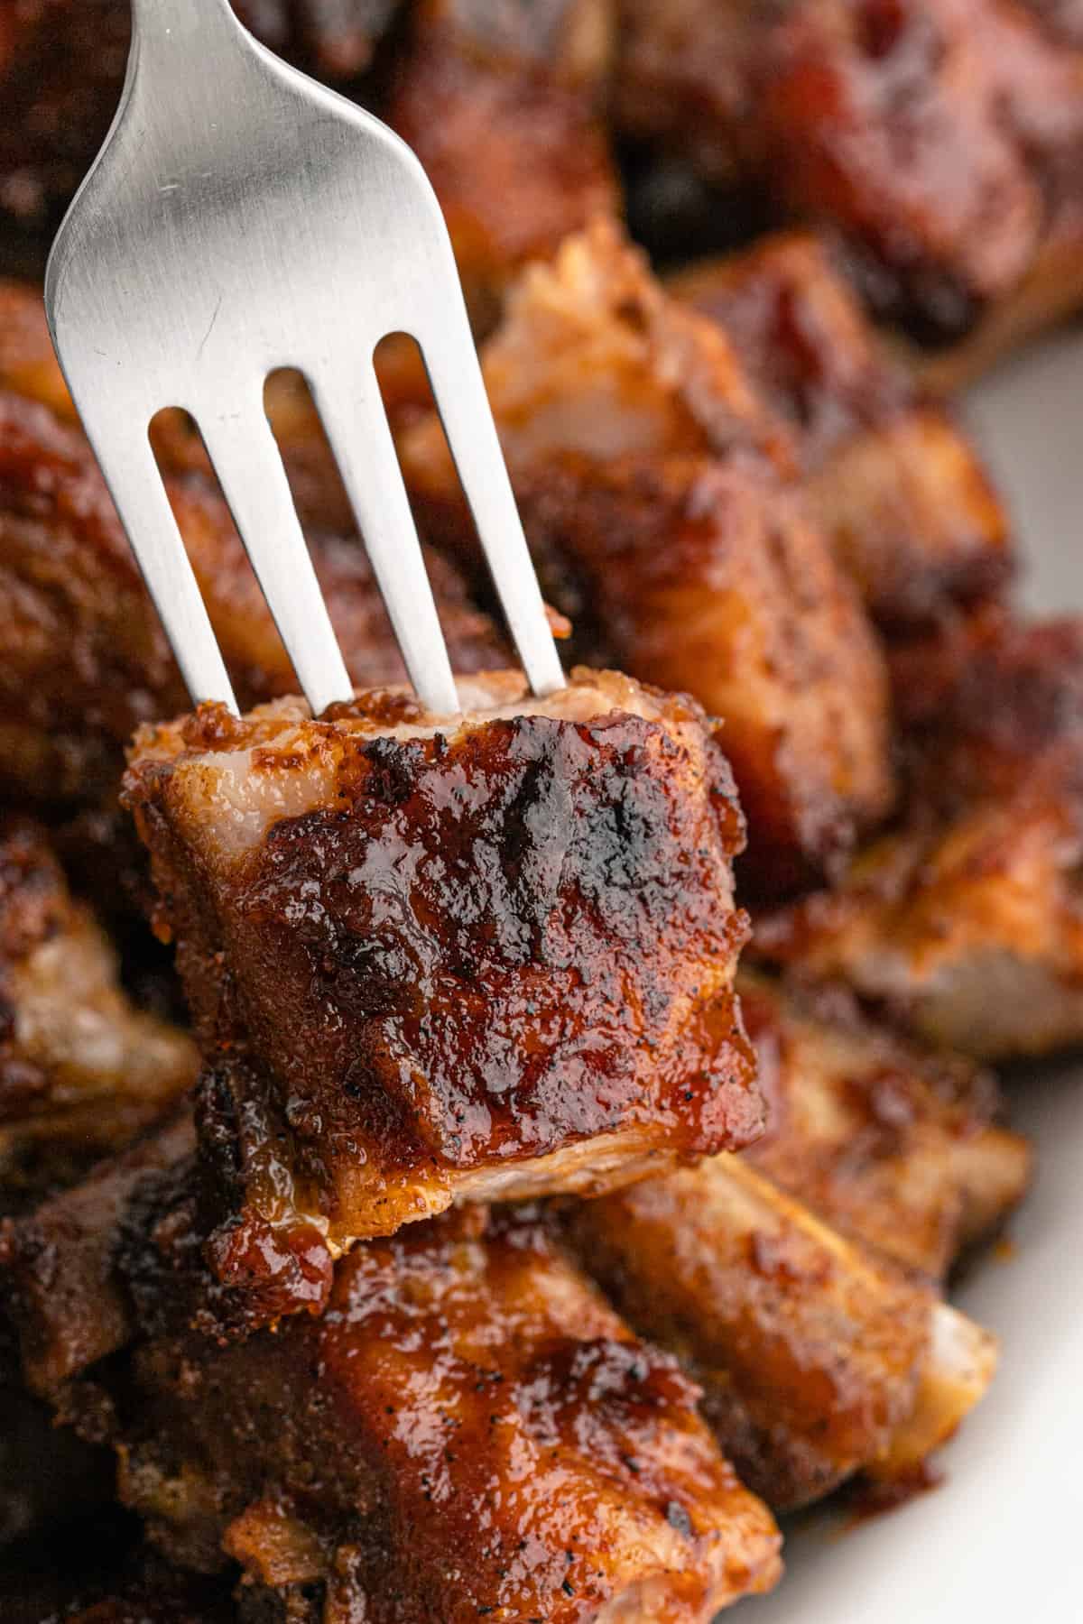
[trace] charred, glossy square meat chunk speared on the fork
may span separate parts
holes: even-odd
[[[297,1213],[339,1247],[762,1125],[742,822],[701,711],[589,671],[460,693],[461,719],[377,690],[140,737],[128,801],[234,1114],[239,1267]]]

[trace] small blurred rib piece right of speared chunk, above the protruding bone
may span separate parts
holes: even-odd
[[[833,1228],[943,1280],[1026,1194],[1031,1151],[994,1078],[906,1044],[846,1000],[739,976],[766,1134],[744,1158]]]

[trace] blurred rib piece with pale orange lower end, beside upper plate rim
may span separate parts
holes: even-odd
[[[1003,591],[1013,557],[989,477],[804,232],[671,283],[716,320],[794,437],[810,512],[888,637]]]

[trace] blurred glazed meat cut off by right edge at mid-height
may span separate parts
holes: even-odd
[[[1083,1038],[1083,625],[986,615],[896,676],[909,810],[757,952],[935,1043],[1005,1057]]]

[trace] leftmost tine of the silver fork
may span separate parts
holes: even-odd
[[[91,412],[88,425],[104,412]],[[94,432],[94,456],[193,703],[237,700],[146,432]]]

